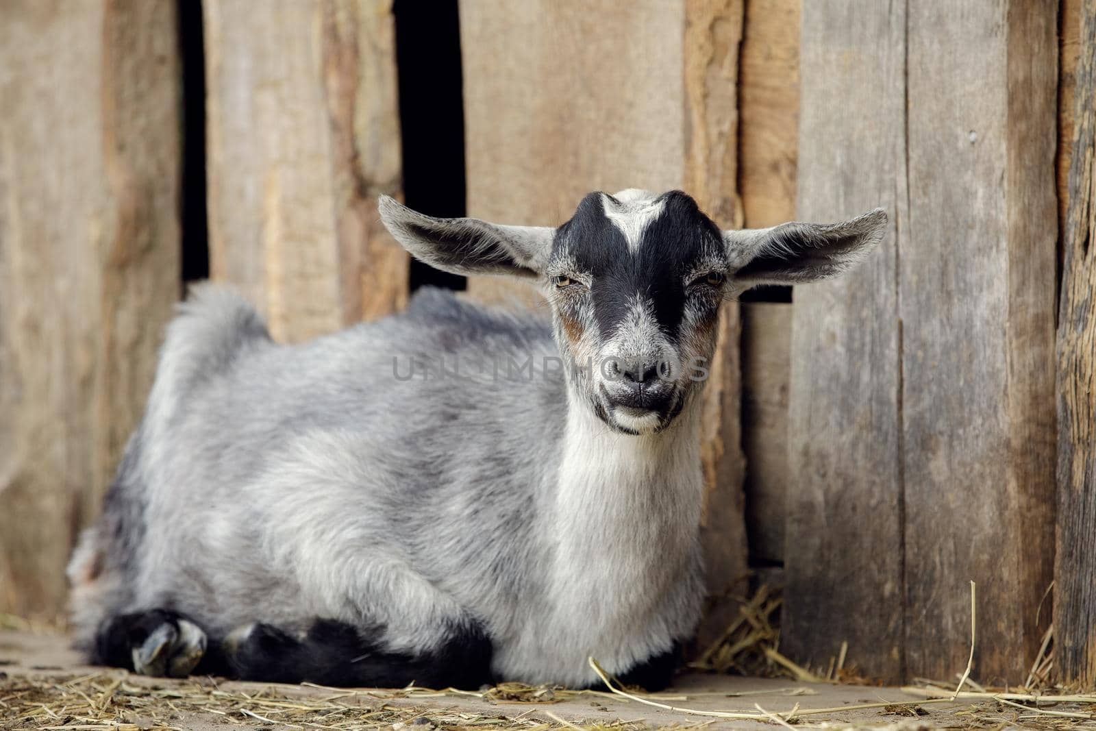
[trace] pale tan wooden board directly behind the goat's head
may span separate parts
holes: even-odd
[[[741,225],[738,176],[741,0],[460,3],[468,214],[558,225],[583,195],[684,187]],[[505,59],[500,62],[499,59]],[[529,285],[471,277],[470,297],[538,306]],[[738,309],[724,309],[705,414],[710,589],[745,575]],[[700,641],[734,607],[716,602]]]

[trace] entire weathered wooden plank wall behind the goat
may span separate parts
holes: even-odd
[[[1052,613],[1061,677],[1096,683],[1096,20],[1053,4],[460,3],[470,215],[558,224],[631,186],[723,226],[891,213],[850,277],[723,313],[701,642],[745,589],[745,514],[806,665],[848,641],[865,675],[950,676],[973,579],[979,679],[1023,681]],[[390,1],[203,5],[212,276],[282,340],[398,309]],[[59,615],[181,296],[176,34],[169,0],[0,14],[0,612]]]

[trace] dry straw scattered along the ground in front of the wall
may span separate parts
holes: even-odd
[[[971,658],[977,639],[971,586]],[[777,650],[779,630],[774,625],[780,597],[763,586],[743,602],[739,617],[719,641],[708,648],[693,667],[734,671],[752,675],[787,676],[801,682],[847,681],[847,644],[830,662],[825,674],[812,673],[795,664]],[[33,630],[28,625],[0,616],[0,625]],[[82,731],[215,729],[220,726],[292,729],[392,729],[422,731],[438,729],[484,729],[492,731],[613,730],[639,731],[642,721],[600,719],[594,724],[576,723],[551,710],[561,701],[582,700],[606,712],[607,701],[633,703],[698,717],[692,726],[718,721],[753,721],[779,727],[845,729],[1077,729],[1096,731],[1096,694],[1070,693],[1049,684],[1053,667],[1052,632],[1048,631],[1031,665],[1025,687],[987,688],[970,676],[972,664],[956,673],[950,683],[918,679],[902,688],[909,701],[861,703],[834,708],[801,708],[795,699],[780,701],[772,696],[813,695],[809,688],[777,688],[743,694],[643,695],[607,676],[594,659],[591,666],[601,675],[608,692],[568,690],[560,687],[503,683],[480,692],[447,688],[433,690],[409,687],[397,690],[218,684],[212,678],[161,681],[129,675],[122,671],[96,672],[79,677],[50,674],[5,675],[0,672],[0,729],[79,729]],[[697,696],[769,695],[752,704],[752,710],[698,710],[681,701]],[[476,707],[458,699],[475,699]],[[452,703],[450,703],[452,701]],[[775,705],[780,708],[777,709]],[[791,708],[788,708],[791,705]],[[484,708],[486,706],[486,708]],[[571,708],[573,716],[573,705]],[[849,711],[860,719],[847,720]],[[563,712],[563,711],[560,711]],[[864,713],[868,713],[865,716]],[[878,713],[877,716],[874,713]]]

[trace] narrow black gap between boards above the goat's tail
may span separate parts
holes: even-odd
[[[182,59],[182,181],[180,226],[182,279],[209,277],[209,227],[206,212],[205,38],[202,0],[178,0],[179,52]]]

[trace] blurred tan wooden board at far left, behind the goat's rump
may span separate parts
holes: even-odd
[[[175,3],[0,13],[0,612],[57,617],[179,298]]]

